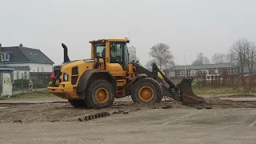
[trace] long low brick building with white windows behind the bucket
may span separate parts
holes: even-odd
[[[237,75],[239,74],[239,67],[231,63],[186,65],[173,66],[164,72],[171,79],[202,78],[210,80],[211,78],[222,78],[224,74]]]

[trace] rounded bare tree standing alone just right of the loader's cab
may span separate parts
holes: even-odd
[[[174,66],[174,56],[170,52],[170,46],[165,43],[152,46],[149,54],[154,58],[153,61],[156,62],[160,70],[162,70],[162,66]]]

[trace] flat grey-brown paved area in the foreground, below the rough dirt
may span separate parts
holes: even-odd
[[[175,108],[138,110],[86,122],[0,123],[0,144],[254,144],[255,116],[250,108]]]

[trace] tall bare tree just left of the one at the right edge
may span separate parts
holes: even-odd
[[[234,62],[240,66],[241,73],[244,72],[244,67],[246,66],[246,57],[249,50],[250,42],[246,39],[238,39],[230,47],[230,54]]]

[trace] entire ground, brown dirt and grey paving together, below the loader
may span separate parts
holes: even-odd
[[[121,98],[103,110],[74,109],[51,97],[1,100],[0,143],[255,143],[253,95],[244,102],[243,95],[204,97],[200,106],[175,101],[142,106]],[[79,121],[103,111],[110,116]]]

